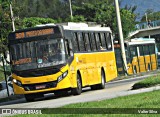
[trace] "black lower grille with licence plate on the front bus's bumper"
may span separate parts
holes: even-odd
[[[25,84],[23,88],[25,91],[33,91],[33,90],[42,90],[48,88],[54,88],[57,86],[57,82],[45,82],[45,83],[38,83],[38,84]]]

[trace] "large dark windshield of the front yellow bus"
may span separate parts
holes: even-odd
[[[12,69],[16,71],[64,64],[66,54],[63,39],[48,39],[10,46]]]

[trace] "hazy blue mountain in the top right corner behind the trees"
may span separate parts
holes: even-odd
[[[160,0],[121,0],[120,7],[124,8],[125,5],[137,6],[135,11],[139,14],[137,20],[141,20],[147,9],[152,9],[154,12],[160,11]]]

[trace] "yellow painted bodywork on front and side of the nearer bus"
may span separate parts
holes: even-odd
[[[117,77],[117,68],[115,54],[113,51],[108,52],[95,52],[95,53],[75,53],[74,59],[70,65],[66,65],[61,68],[62,72],[68,70],[68,75],[54,88],[40,89],[25,91],[24,88],[17,86],[15,83],[14,92],[15,94],[29,94],[38,92],[50,92],[67,88],[77,87],[77,72],[80,72],[82,86],[90,86],[101,83],[101,71],[105,72],[106,82]],[[20,76],[12,75],[14,79],[21,81],[22,84],[38,84],[56,81],[57,78],[62,75],[62,72],[58,72],[52,75],[39,76],[39,77],[28,77],[23,78]]]

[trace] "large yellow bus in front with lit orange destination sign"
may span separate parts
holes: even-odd
[[[15,94],[34,101],[45,93],[80,95],[117,77],[111,30],[87,24],[44,25],[8,36]]]

